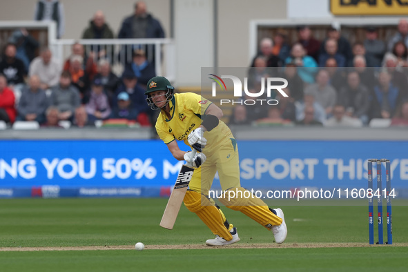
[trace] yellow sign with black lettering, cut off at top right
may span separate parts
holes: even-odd
[[[333,15],[407,15],[408,0],[329,0]]]

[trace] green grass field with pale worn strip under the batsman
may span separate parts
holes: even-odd
[[[0,271],[407,270],[407,200],[393,202],[393,246],[366,246],[367,205],[303,202],[282,206],[289,234],[281,246],[273,243],[270,231],[224,207],[241,238],[226,248],[204,246],[213,235],[184,206],[172,231],[160,228],[166,202],[0,200]],[[386,224],[384,229],[386,241]],[[133,250],[136,242],[146,250]]]

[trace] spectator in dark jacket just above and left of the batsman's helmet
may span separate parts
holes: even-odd
[[[126,70],[135,74],[141,86],[146,86],[149,79],[156,76],[155,68],[146,59],[146,54],[142,49],[133,51],[133,61],[125,68],[125,72]]]

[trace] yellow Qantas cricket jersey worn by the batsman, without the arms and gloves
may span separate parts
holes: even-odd
[[[176,93],[169,102],[171,119],[167,119],[163,112],[157,117],[156,130],[160,139],[165,144],[177,139],[190,146],[187,136],[201,125],[201,118],[210,105],[211,101],[195,93]],[[217,144],[225,141],[231,142],[233,135],[229,127],[220,120],[220,124],[213,130],[206,131],[204,137],[207,139],[204,153],[211,155],[217,149]]]

